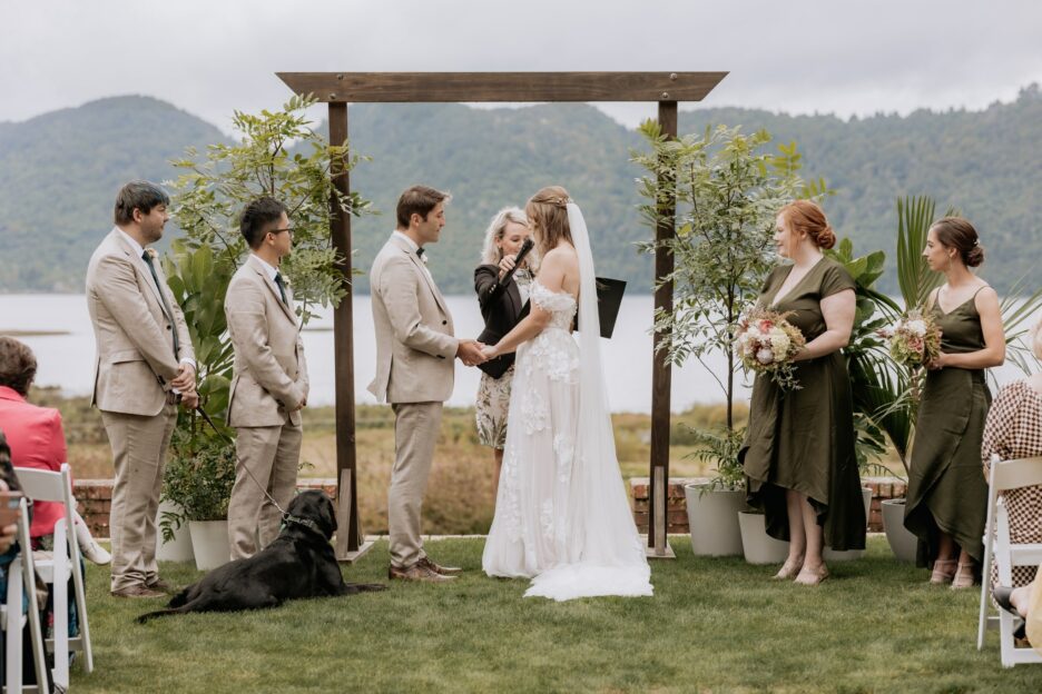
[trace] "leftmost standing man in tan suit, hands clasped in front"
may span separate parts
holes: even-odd
[[[91,404],[112,447],[116,484],[109,532],[110,589],[158,597],[169,586],[156,564],[156,510],[177,403],[198,405],[195,354],[156,252],[170,218],[167,194],[131,181],[116,197],[116,227],[87,267],[87,308],[98,358]]]

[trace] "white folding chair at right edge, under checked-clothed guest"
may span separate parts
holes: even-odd
[[[999,609],[989,615],[991,604],[991,566],[999,569],[999,585],[1013,585],[1014,566],[1042,564],[1042,543],[1013,544],[1010,541],[1010,516],[1000,493],[1042,485],[1042,456],[1020,460],[1000,460],[992,456],[991,476],[987,488],[987,522],[984,526],[984,566],[981,574],[981,612],[977,618],[977,651],[984,647],[984,631],[999,627],[999,646],[1002,665],[1013,667],[1018,663],[1042,663],[1042,655],[1034,648],[1018,648],[1013,640],[1013,615]]]

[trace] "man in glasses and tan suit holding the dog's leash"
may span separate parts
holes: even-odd
[[[254,200],[239,229],[250,254],[225,297],[235,349],[228,424],[237,430],[238,459],[228,503],[233,559],[253,556],[278,536],[278,506],[288,506],[296,488],[301,408],[307,404],[301,325],[279,271],[293,245],[286,207],[272,198]]]

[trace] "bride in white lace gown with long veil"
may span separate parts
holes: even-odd
[[[490,576],[532,578],[525,596],[651,595],[616,458],[586,222],[556,186],[525,212],[542,256],[531,313],[485,348],[489,358],[514,349],[518,358],[482,566]]]

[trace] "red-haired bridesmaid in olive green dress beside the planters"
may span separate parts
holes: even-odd
[[[764,510],[767,533],[789,543],[775,578],[817,585],[828,576],[822,557],[833,549],[865,547],[865,506],[854,453],[851,379],[839,350],[854,326],[854,280],[826,258],[836,236],[822,208],[797,200],[778,214],[778,255],[759,306],[793,311],[788,321],[807,345],[796,356],[799,389],[782,390],[757,376],[749,426],[739,452],[748,500]]]

